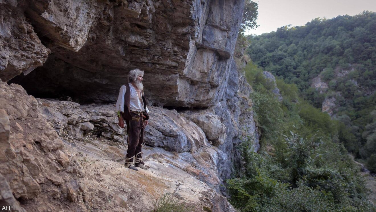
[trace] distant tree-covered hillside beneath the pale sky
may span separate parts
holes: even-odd
[[[321,110],[332,100],[325,109],[338,126],[333,130],[320,121],[317,126],[331,129],[329,134],[337,134],[338,142],[376,172],[376,13],[316,18],[247,39],[253,63],[296,84],[307,104]]]

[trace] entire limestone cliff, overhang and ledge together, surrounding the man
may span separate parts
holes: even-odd
[[[2,205],[147,211],[171,192],[195,211],[233,211],[222,195],[237,146],[251,138],[259,148],[249,85],[233,60],[243,1],[0,6]],[[138,172],[123,166],[126,134],[113,104],[136,67],[145,70],[151,105],[144,148],[151,168]]]

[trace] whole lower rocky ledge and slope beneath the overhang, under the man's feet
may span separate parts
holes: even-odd
[[[232,75],[238,75],[236,69],[232,69]],[[1,106],[8,109],[2,113],[0,135],[9,137],[2,148],[13,155],[1,164],[3,172],[0,173],[9,182],[9,189],[4,191],[13,195],[11,198],[5,195],[3,200],[15,206],[24,198],[33,200],[33,204],[21,201],[20,211],[22,208],[32,210],[45,200],[49,201],[45,209],[53,211],[66,207],[132,211],[151,208],[148,204],[134,203],[136,200],[152,202],[155,192],[162,194],[166,192],[164,188],[169,188],[176,197],[189,196],[191,200],[187,204],[206,206],[207,200],[203,200],[209,196],[213,211],[232,211],[232,206],[218,192],[225,193],[223,180],[230,177],[233,163],[236,165],[240,160],[237,146],[244,139],[254,139],[253,150],[258,150],[258,133],[250,110],[252,102],[238,96],[239,84],[244,85],[244,82],[235,79],[239,76],[228,86],[227,98],[206,110],[177,113],[176,110],[149,108],[151,120],[146,127],[145,142],[155,147],[144,148],[144,156],[152,168],[141,175],[123,168],[126,144],[119,141],[126,140],[126,136],[117,127],[113,104],[79,105],[35,99],[27,96],[21,86],[2,82]],[[184,118],[194,113],[193,120],[198,125]],[[215,131],[217,127],[219,131]],[[207,136],[220,138],[219,143],[213,143],[218,147],[207,142]],[[29,169],[16,174],[15,164],[24,164],[22,166]],[[166,184],[166,178],[172,184]],[[145,184],[148,180],[152,183]],[[174,183],[179,186],[174,188]],[[198,183],[202,186],[193,189],[192,185]],[[132,189],[139,191],[140,186],[142,192],[134,195]],[[97,192],[99,187],[101,192]],[[111,204],[103,204],[109,199]]]

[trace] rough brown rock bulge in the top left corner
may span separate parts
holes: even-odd
[[[25,8],[19,5],[18,1],[0,2],[0,78],[3,81],[42,66],[50,53],[25,20]]]

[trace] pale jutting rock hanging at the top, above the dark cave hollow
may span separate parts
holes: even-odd
[[[26,12],[34,26],[55,44],[77,52],[87,40],[96,6],[95,0],[37,0]]]

